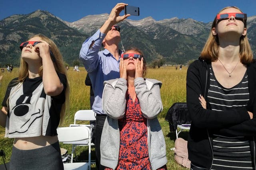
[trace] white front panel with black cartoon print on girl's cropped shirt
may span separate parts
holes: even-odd
[[[44,113],[44,102],[46,94],[43,90],[43,84],[41,83],[33,92],[28,94],[24,93],[24,87],[20,86],[17,90],[14,89],[14,95],[12,98],[12,107],[10,107],[10,119],[15,123],[16,128],[10,128],[10,134],[26,133],[30,128],[38,126],[38,123],[42,123],[42,116]],[[17,91],[16,91],[17,90]],[[15,102],[16,101],[16,102]]]

